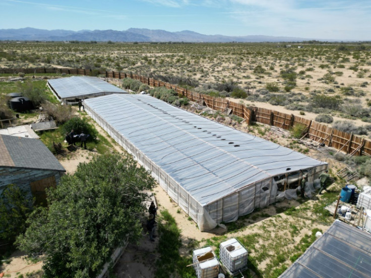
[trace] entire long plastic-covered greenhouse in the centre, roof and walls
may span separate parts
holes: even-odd
[[[327,163],[148,95],[85,101],[87,113],[158,180],[201,231],[278,200]]]

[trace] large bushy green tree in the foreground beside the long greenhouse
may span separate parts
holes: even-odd
[[[116,247],[142,236],[143,191],[153,186],[129,156],[94,158],[48,191],[49,207],[34,211],[17,244],[45,254],[46,277],[95,277]]]

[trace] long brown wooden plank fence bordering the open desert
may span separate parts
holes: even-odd
[[[185,88],[136,75],[133,73],[121,73],[114,71],[96,71],[83,68],[56,68],[56,67],[36,67],[36,68],[0,68],[0,74],[68,74],[68,75],[103,75],[107,78],[131,78],[152,87],[166,87],[173,89],[180,97],[187,97],[191,101],[199,104],[206,104],[208,107],[222,112],[230,112],[233,115],[243,118],[249,124],[253,121],[277,126],[284,129],[290,129],[294,125],[303,125],[302,136],[308,137],[313,141],[332,147],[350,155],[368,155],[371,156],[371,141],[365,140],[352,133],[346,133],[325,124],[294,116],[293,114],[281,113],[260,107],[246,107],[243,104],[226,100],[224,98],[211,97],[205,94],[199,94]]]

